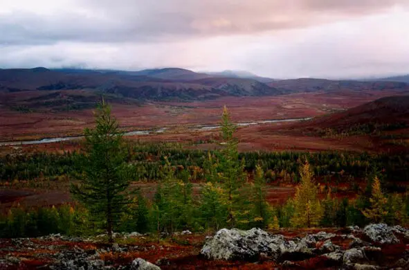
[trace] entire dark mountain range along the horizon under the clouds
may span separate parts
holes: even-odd
[[[111,102],[144,102],[208,100],[224,96],[278,96],[311,91],[407,91],[408,82],[398,79],[367,82],[313,78],[273,80],[244,71],[197,73],[179,68],[143,71],[44,67],[0,69],[0,105],[28,109],[81,109],[95,106],[101,95]]]

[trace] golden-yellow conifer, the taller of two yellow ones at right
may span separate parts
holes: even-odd
[[[301,182],[294,197],[294,215],[291,224],[295,227],[317,226],[322,217],[322,208],[317,199],[317,187],[312,181],[309,163],[300,168]]]

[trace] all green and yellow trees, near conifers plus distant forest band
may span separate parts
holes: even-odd
[[[3,186],[71,183],[73,204],[44,208],[19,205],[1,213],[0,237],[107,232],[159,235],[219,228],[408,225],[408,159],[351,152],[242,152],[224,107],[220,150],[188,150],[176,143],[127,141],[109,106],[102,103],[95,129],[85,130],[80,151],[1,156]],[[365,187],[357,184],[365,179]],[[318,181],[319,180],[319,181]],[[157,183],[153,199],[132,182]],[[200,183],[199,191],[192,183]],[[297,185],[284,204],[269,204],[266,185]],[[348,184],[358,197],[336,197]],[[318,199],[325,194],[325,199]]]

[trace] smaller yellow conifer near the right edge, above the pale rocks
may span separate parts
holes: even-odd
[[[372,183],[372,195],[370,197],[370,207],[362,210],[363,215],[370,219],[371,222],[382,222],[385,215],[388,214],[386,210],[386,203],[388,199],[383,196],[381,190],[381,181],[378,177],[374,178]]]

